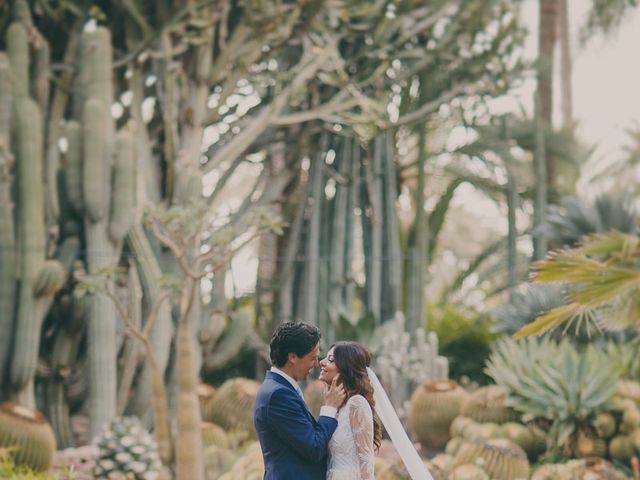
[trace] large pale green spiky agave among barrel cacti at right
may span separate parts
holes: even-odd
[[[614,363],[589,347],[578,352],[567,340],[503,340],[491,354],[487,374],[509,393],[523,419],[549,424],[552,450],[565,450],[593,431],[619,379]]]

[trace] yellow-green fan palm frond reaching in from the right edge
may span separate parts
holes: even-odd
[[[620,232],[585,237],[581,246],[559,250],[534,265],[533,280],[566,287],[566,305],[525,325],[516,338],[539,335],[567,322],[605,328],[640,324],[640,237]]]

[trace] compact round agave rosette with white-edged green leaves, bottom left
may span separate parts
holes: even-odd
[[[158,446],[136,417],[115,418],[95,440],[98,456],[93,473],[97,479],[159,478]]]

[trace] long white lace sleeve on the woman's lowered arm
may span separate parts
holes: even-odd
[[[369,402],[355,395],[349,399],[349,424],[356,444],[360,480],[374,480],[373,414]]]

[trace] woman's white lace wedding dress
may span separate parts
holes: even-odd
[[[329,442],[327,480],[375,480],[373,414],[362,395],[354,395],[338,412],[338,428]]]

